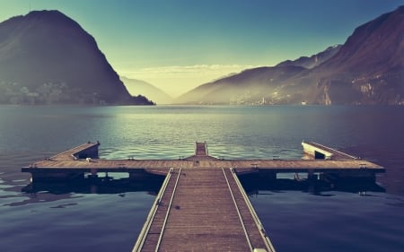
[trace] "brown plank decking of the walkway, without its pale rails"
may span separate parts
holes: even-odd
[[[238,194],[240,188],[230,169],[226,170],[232,191]],[[193,169],[180,175],[158,251],[249,251],[242,224],[247,226],[254,246],[266,248],[244,199],[237,195],[237,205],[242,209],[241,223],[225,179],[222,169]],[[154,233],[159,228],[151,230]],[[146,239],[146,244],[153,242]],[[150,250],[147,247],[139,251]]]

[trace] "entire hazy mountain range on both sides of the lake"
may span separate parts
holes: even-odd
[[[356,28],[344,45],[230,74],[172,103],[404,104],[403,34],[400,6]],[[95,39],[63,13],[0,23],[0,104],[153,104],[143,95],[171,103],[149,83],[121,80]]]

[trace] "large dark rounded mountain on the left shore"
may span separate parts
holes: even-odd
[[[0,103],[150,104],[132,97],[90,34],[58,11],[0,23]]]

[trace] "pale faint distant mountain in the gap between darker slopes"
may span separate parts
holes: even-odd
[[[127,91],[129,91],[131,95],[142,94],[157,104],[171,104],[171,96],[156,88],[151,83],[146,83],[136,79],[129,79],[124,76],[120,76],[120,80],[125,84]]]

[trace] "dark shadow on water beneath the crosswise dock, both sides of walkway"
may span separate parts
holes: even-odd
[[[259,191],[301,191],[315,196],[333,196],[328,192],[348,192],[364,194],[365,192],[385,192],[373,181],[350,179],[344,181],[326,181],[321,179],[265,178],[259,174],[239,176],[248,195]],[[33,182],[22,187],[22,192],[34,198],[36,194],[47,192],[57,199],[69,198],[77,194],[116,194],[125,196],[127,192],[148,192],[157,195],[164,176],[147,175],[139,178],[81,178],[68,181]],[[53,199],[55,200],[55,199]],[[53,201],[51,200],[51,201]]]

